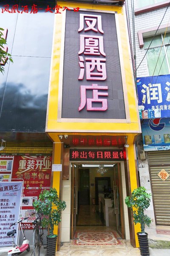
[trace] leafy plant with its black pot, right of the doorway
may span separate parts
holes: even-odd
[[[134,189],[132,195],[125,198],[125,204],[133,211],[134,223],[141,224],[141,232],[137,233],[141,256],[150,255],[147,233],[144,231],[145,225],[150,227],[151,223],[150,217],[144,214],[144,210],[150,206],[150,198],[151,195],[146,192],[143,186]]]

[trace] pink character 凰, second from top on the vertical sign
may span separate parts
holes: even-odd
[[[103,37],[98,35],[80,35],[79,55],[100,55],[106,56],[103,46]]]

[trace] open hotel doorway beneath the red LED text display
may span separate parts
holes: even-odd
[[[116,230],[125,238],[120,163],[71,164],[71,239],[77,230]]]

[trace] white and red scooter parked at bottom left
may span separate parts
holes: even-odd
[[[27,218],[24,218],[23,220],[26,220],[28,219],[29,217]],[[19,224],[19,229],[21,229],[21,232],[23,234],[23,244],[20,245],[20,246],[16,246],[15,244],[15,241],[14,241],[14,234],[16,234],[16,230],[11,230],[7,233],[7,236],[11,237],[13,239],[13,248],[11,250],[8,251],[8,254],[11,254],[11,256],[17,256],[19,255],[20,253],[23,253],[25,250],[27,250],[27,252],[30,251],[30,246],[29,246],[29,240],[26,239],[26,236],[23,232],[23,228],[22,228],[22,219],[18,220],[17,222],[14,222],[10,225],[13,226],[13,225],[16,225],[16,224]]]

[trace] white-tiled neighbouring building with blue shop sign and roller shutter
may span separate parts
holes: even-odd
[[[170,3],[126,1],[126,11],[142,126],[136,143],[140,184],[153,199],[148,233],[160,234],[170,225]]]

